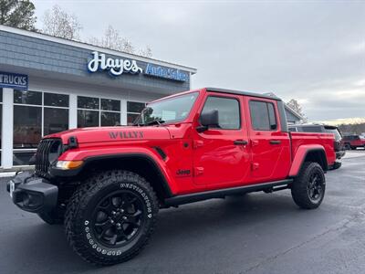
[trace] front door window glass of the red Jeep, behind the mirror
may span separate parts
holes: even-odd
[[[203,111],[218,111],[219,127],[223,130],[238,130],[241,125],[239,101],[231,98],[210,96],[205,101]]]

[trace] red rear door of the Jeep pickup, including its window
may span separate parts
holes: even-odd
[[[288,132],[281,132],[276,100],[245,97],[252,152],[251,181],[269,182],[287,177],[291,164]]]

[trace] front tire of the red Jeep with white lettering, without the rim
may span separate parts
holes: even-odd
[[[129,244],[110,248],[96,236],[90,213],[97,210],[95,208],[100,205],[99,201],[118,191],[129,192],[141,199],[141,217],[144,225],[131,238]],[[111,199],[113,198],[111,196]],[[81,258],[94,265],[106,266],[129,260],[140,253],[148,243],[156,225],[158,211],[159,202],[151,184],[139,174],[120,170],[96,174],[81,184],[68,202],[65,217],[68,243]]]

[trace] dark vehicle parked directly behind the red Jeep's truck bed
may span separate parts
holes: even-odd
[[[335,135],[335,152],[336,162],[330,166],[330,169],[338,169],[341,166],[340,159],[345,155],[345,147],[342,143],[342,134],[339,128],[336,126],[330,126],[325,124],[295,124],[289,125],[290,132],[323,132],[332,133]]]

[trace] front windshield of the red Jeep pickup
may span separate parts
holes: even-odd
[[[199,92],[192,92],[166,100],[153,102],[141,112],[134,124],[148,125],[152,123],[184,121],[193,108]]]

